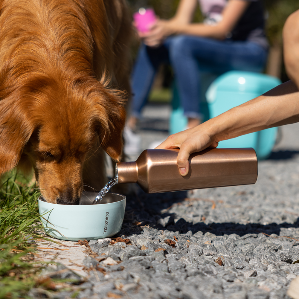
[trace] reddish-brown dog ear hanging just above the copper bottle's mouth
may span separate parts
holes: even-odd
[[[123,128],[126,122],[126,92],[103,88],[97,100],[97,132],[101,146],[115,161],[123,152]],[[98,99],[99,99],[98,98]]]

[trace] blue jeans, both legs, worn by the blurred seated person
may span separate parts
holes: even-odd
[[[267,50],[248,41],[179,35],[168,37],[158,48],[142,44],[132,74],[132,115],[140,116],[161,63],[173,68],[184,115],[199,118],[200,71],[217,74],[231,70],[261,72],[266,60]]]

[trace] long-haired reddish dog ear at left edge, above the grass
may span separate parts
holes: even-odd
[[[33,132],[33,125],[25,115],[25,103],[22,106],[11,97],[0,101],[0,174],[18,164],[22,150]]]

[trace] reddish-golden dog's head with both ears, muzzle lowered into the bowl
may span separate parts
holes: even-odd
[[[35,79],[0,101],[0,173],[33,167],[42,196],[78,204],[86,156],[99,140],[119,161],[124,93],[103,82]]]

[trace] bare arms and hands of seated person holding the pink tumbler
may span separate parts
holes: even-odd
[[[182,0],[176,16],[169,21],[158,20],[150,32],[140,34],[144,43],[149,46],[157,46],[167,36],[173,34],[186,34],[193,36],[225,39],[249,5],[245,0],[229,0],[222,12],[222,21],[215,26],[202,23],[190,24],[191,16],[195,10],[194,0]]]

